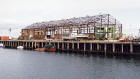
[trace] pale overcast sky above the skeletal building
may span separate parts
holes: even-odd
[[[140,0],[0,0],[0,35],[18,37],[21,29],[32,23],[104,13],[123,24],[124,34],[138,35],[139,3]]]

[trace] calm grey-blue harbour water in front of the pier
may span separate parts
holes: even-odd
[[[0,79],[139,79],[140,59],[0,49]]]

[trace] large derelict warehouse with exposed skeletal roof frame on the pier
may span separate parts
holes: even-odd
[[[34,23],[22,29],[19,39],[62,39],[79,34],[87,35],[90,39],[119,39],[122,24],[110,14]]]

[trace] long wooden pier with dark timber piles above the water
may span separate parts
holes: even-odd
[[[103,54],[140,54],[140,42],[107,42],[107,41],[32,41],[8,40],[0,41],[6,48],[24,46],[25,49],[34,50],[44,47],[45,44],[55,45],[57,51],[77,53],[103,53]]]

